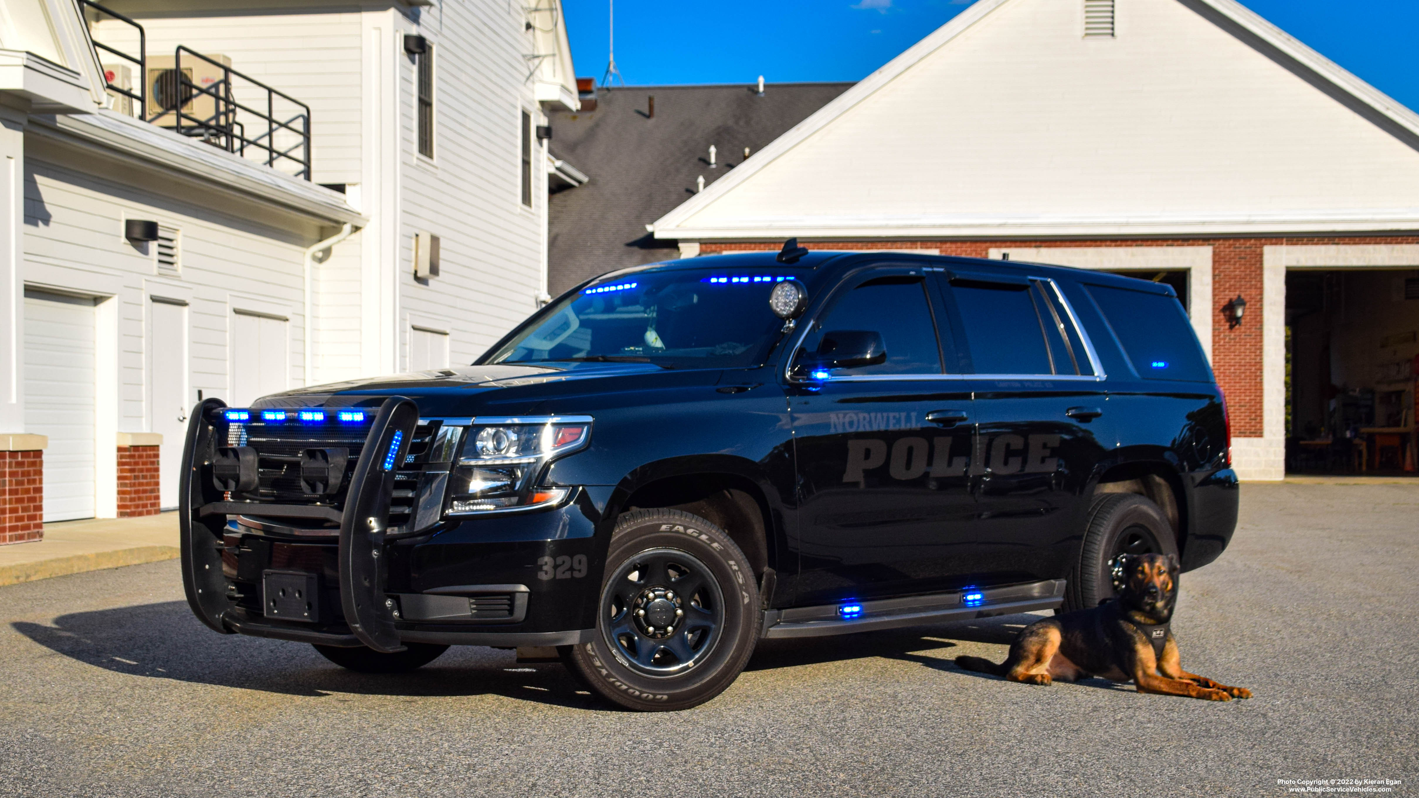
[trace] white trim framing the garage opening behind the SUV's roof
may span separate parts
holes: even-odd
[[[1054,264],[1077,269],[1186,271],[1188,315],[1202,350],[1212,361],[1212,247],[992,247],[999,261]],[[1202,310],[1200,313],[1198,310]]]

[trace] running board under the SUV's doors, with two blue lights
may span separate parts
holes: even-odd
[[[966,601],[968,594],[972,595],[969,602]],[[976,598],[976,594],[979,594],[979,598]],[[1061,604],[1064,604],[1064,580],[1046,580],[982,590],[956,590],[907,598],[843,601],[820,607],[769,609],[763,614],[762,636],[816,638],[823,635],[849,635],[853,632],[900,629],[902,626],[1053,609]],[[853,614],[853,617],[844,618],[844,607],[860,607],[861,609]]]

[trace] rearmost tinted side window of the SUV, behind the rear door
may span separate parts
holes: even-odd
[[[1105,285],[1084,288],[1141,377],[1212,381],[1212,367],[1176,298]]]

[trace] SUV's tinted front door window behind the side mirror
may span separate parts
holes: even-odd
[[[834,369],[833,374],[939,374],[941,349],[927,288],[920,276],[873,278],[837,298],[803,339],[797,359],[817,352],[824,332],[874,330],[883,336],[887,361]]]

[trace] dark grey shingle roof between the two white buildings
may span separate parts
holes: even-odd
[[[548,282],[553,295],[617,268],[678,257],[646,225],[806,119],[853,84],[629,86],[602,89],[590,113],[552,115],[553,157],[590,176],[552,194]],[[656,116],[647,118],[647,98]],[[710,167],[710,145],[718,169]]]

